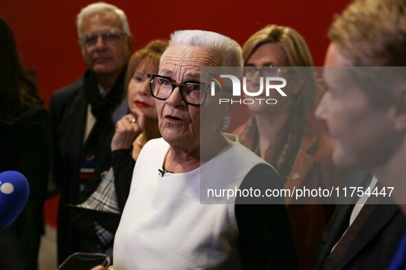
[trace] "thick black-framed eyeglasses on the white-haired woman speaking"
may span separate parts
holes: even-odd
[[[172,95],[175,88],[179,87],[183,101],[192,106],[201,106],[207,97],[207,86],[203,82],[186,81],[183,84],[172,82],[170,77],[157,74],[148,74],[150,92],[155,99],[166,100]]]

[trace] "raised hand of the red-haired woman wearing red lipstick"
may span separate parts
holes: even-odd
[[[131,145],[142,133],[144,114],[126,114],[115,124],[115,133],[111,140],[111,151],[118,149],[131,149]]]

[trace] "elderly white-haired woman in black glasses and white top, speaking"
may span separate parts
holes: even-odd
[[[221,132],[233,108],[218,106],[218,98],[229,93],[212,96],[208,82],[199,81],[202,66],[242,64],[240,46],[226,36],[172,34],[159,74],[148,75],[162,138],[150,140],[135,164],[115,237],[115,269],[297,268],[283,198],[201,200],[212,184],[280,187],[273,167]]]

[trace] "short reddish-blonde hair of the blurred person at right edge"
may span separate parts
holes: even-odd
[[[406,0],[356,0],[336,17],[328,36],[352,66],[406,66]],[[352,68],[350,72],[381,109],[396,101],[396,86],[405,79],[404,69]]]

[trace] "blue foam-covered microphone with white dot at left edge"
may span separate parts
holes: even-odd
[[[30,195],[27,178],[18,171],[0,173],[0,230],[19,216]]]

